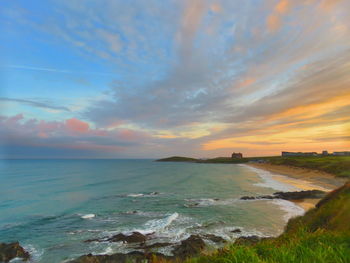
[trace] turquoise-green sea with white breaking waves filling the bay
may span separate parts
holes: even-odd
[[[135,250],[120,242],[84,243],[120,232],[154,233],[152,242],[178,242],[190,234],[231,241],[273,236],[303,213],[284,200],[239,200],[296,189],[237,164],[3,160],[0,179],[0,242],[19,241],[32,262]],[[235,228],[242,233],[232,233]]]

